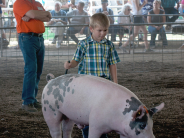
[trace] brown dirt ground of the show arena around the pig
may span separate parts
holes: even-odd
[[[128,56],[121,55],[121,63],[117,64],[119,84],[133,91],[148,108],[165,103],[164,109],[153,116],[156,138],[184,138],[184,54],[178,57],[177,53],[164,57],[159,54],[145,55],[145,59],[153,59],[154,56],[154,60],[137,60],[135,56],[134,63],[132,58],[128,60]],[[138,56],[143,59],[140,54]],[[47,59],[39,84],[38,100],[47,83],[46,74],[59,76],[65,73],[63,63],[67,59],[59,63]],[[31,114],[21,110],[23,66],[21,58],[0,60],[0,138],[50,138],[41,111]],[[77,73],[77,68],[69,70],[69,73]],[[119,138],[115,132],[108,133],[108,136]],[[82,138],[76,126],[72,138]]]

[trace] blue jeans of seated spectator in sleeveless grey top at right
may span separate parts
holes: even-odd
[[[161,35],[163,45],[165,45],[165,46],[167,45],[167,38],[166,38],[164,27],[160,28],[160,30],[157,30],[155,27],[149,26],[148,31],[151,33],[150,46],[155,46],[155,38],[156,38],[157,34]]]

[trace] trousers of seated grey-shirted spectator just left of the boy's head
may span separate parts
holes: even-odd
[[[75,29],[74,27],[69,27],[68,30],[67,30],[67,35],[69,35],[71,37],[71,39],[73,41],[75,41],[75,43],[78,44],[79,40],[78,38],[75,36],[76,33],[79,33],[81,31],[81,29]],[[88,34],[88,27],[85,27],[84,31],[83,31],[84,34]]]

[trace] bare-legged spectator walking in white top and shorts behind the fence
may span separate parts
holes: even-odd
[[[142,15],[141,9],[144,5],[147,4],[147,0],[144,0],[142,5],[140,4],[140,0],[131,0],[131,3],[132,3],[133,15],[135,15],[133,19],[134,23],[139,23],[139,24],[143,23],[144,21],[142,19],[142,16],[139,16],[139,15]],[[144,52],[152,52],[152,50],[149,48],[149,45],[148,45],[148,41],[147,41],[148,32],[146,30],[145,25],[134,26],[134,35],[132,34],[128,39],[128,41],[126,41],[126,43],[120,47],[123,50],[123,52],[126,52],[125,47],[129,44],[129,41],[133,40],[138,35],[139,30],[142,30],[142,32],[144,33],[144,44],[145,44]]]

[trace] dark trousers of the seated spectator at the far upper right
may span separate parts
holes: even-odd
[[[164,8],[165,14],[179,14],[178,10],[173,8]],[[169,18],[169,16],[166,16],[166,22],[175,22],[178,19],[179,16],[172,16]]]

